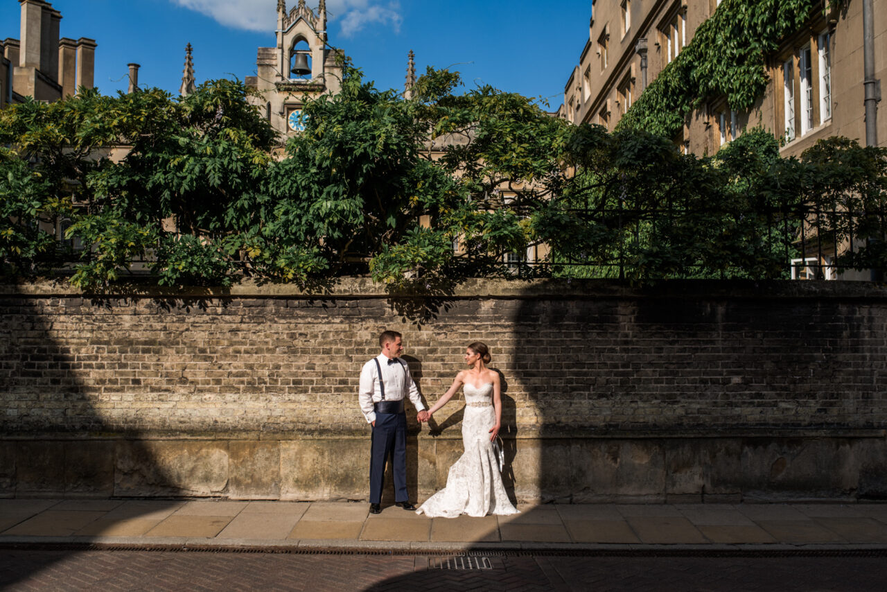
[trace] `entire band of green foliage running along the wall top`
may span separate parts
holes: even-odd
[[[648,131],[570,126],[514,93],[457,94],[445,70],[411,99],[344,72],[340,94],[307,101],[279,159],[238,82],[0,112],[3,272],[67,272],[87,289],[130,274],[170,286],[369,274],[423,292],[478,276],[783,278],[814,227],[864,237],[840,264],[887,264],[884,149],[832,138],[781,159],[750,130],[697,158]],[[541,260],[506,264],[533,248]]]

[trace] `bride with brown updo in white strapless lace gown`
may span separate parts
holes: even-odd
[[[456,375],[449,391],[428,411],[428,418],[446,405],[465,385],[465,415],[462,418],[462,444],[465,453],[450,467],[446,487],[428,498],[417,514],[454,518],[460,514],[481,517],[487,514],[517,514],[502,485],[502,476],[493,452],[493,442],[502,422],[499,375],[486,365],[490,350],[480,342],[465,351],[467,370]]]

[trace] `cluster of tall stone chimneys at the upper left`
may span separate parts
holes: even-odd
[[[19,0],[20,39],[0,42],[0,108],[25,97],[53,101],[92,88],[96,42],[59,38],[61,13],[43,0]]]

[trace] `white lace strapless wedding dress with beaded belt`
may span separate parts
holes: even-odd
[[[460,514],[481,517],[488,514],[517,514],[502,485],[490,430],[496,425],[492,383],[479,388],[466,384],[465,415],[462,417],[462,445],[465,453],[450,467],[446,487],[428,498],[417,514],[454,518]]]

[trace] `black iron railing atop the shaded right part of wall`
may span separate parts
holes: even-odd
[[[887,212],[802,205],[724,209],[570,209],[597,241],[530,243],[513,275],[671,279],[880,279]]]

